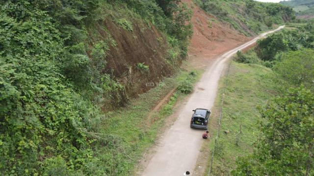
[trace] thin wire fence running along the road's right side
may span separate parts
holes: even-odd
[[[228,70],[227,70],[227,74],[226,74],[226,78],[225,78],[225,83],[224,83],[223,90],[222,90],[222,98],[221,98],[221,104],[220,104],[220,110],[219,110],[218,132],[217,132],[217,135],[216,135],[216,137],[215,137],[214,147],[213,147],[213,149],[212,149],[212,154],[211,154],[211,159],[210,159],[210,166],[209,166],[208,176],[210,176],[210,174],[211,174],[212,163],[213,163],[214,154],[215,154],[215,148],[216,148],[217,140],[218,140],[218,137],[219,137],[219,134],[220,134],[220,125],[221,125],[221,119],[222,119],[222,108],[223,108],[223,105],[224,105],[225,90],[226,90],[226,87],[227,87],[227,84],[228,84],[228,76],[229,76],[230,66],[231,66],[231,64],[232,64],[232,61],[233,61],[233,59],[231,59],[231,60],[229,61]]]

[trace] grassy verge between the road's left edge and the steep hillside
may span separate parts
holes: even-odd
[[[107,175],[130,175],[144,151],[155,143],[157,133],[172,113],[175,103],[186,95],[177,90],[152,116],[153,120],[146,117],[157,103],[183,80],[189,79],[194,84],[200,78],[201,71],[193,71],[192,75],[190,73],[191,71],[181,70],[175,77],[166,78],[160,84],[162,86],[152,88],[133,99],[126,108],[106,113],[104,119],[95,127],[95,131],[99,132],[99,140],[94,145],[98,153],[89,168],[94,171],[101,168]],[[146,124],[147,120],[150,120],[150,123]]]

